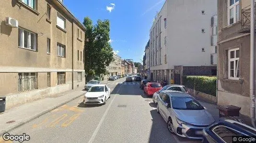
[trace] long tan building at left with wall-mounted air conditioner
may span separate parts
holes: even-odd
[[[84,86],[85,28],[61,0],[1,0],[0,8],[6,108]]]

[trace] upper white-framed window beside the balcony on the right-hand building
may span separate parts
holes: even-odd
[[[239,0],[228,0],[228,25],[240,20],[239,18]]]

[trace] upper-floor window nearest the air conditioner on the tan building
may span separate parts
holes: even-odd
[[[18,44],[19,47],[36,50],[36,35],[34,32],[19,28],[18,31]]]

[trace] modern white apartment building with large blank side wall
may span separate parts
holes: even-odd
[[[185,75],[216,75],[211,64],[211,17],[217,0],[166,0],[150,30],[152,81],[182,84]]]

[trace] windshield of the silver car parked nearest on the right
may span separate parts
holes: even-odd
[[[172,106],[178,110],[204,110],[193,97],[172,97]]]

